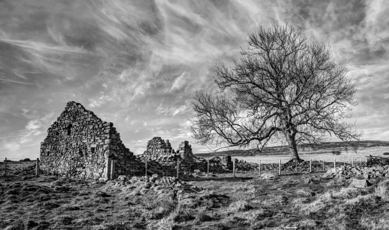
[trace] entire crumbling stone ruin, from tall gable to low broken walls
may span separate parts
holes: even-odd
[[[145,162],[149,174],[176,175],[207,171],[208,162],[195,157],[188,141],[175,151],[169,140],[154,137],[141,155],[130,152],[110,122],[102,121],[80,103],[70,101],[47,131],[41,142],[41,170],[56,175],[111,179],[119,175],[144,175]],[[210,172],[232,170],[230,156],[210,159]]]

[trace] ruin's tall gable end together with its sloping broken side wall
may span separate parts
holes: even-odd
[[[40,167],[45,172],[108,179],[112,174],[135,175],[144,168],[112,123],[74,101],[67,103],[47,133],[40,147]]]

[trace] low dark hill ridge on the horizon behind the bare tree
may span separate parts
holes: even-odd
[[[354,142],[355,143],[355,142]],[[389,141],[380,141],[380,140],[365,140],[360,141],[358,144],[358,148],[372,148],[372,147],[378,147],[378,146],[389,146]],[[349,144],[345,142],[325,142],[322,144],[315,144],[315,145],[305,145],[305,146],[298,146],[299,153],[304,152],[311,152],[311,151],[332,151],[332,150],[349,150],[353,151],[354,148],[350,146]],[[212,156],[212,155],[234,155],[234,156],[245,156],[245,155],[282,155],[282,154],[288,154],[288,146],[272,146],[272,147],[265,147],[262,150],[262,153],[259,153],[258,151],[254,150],[227,150],[227,151],[220,151],[215,153],[195,153],[196,156]]]

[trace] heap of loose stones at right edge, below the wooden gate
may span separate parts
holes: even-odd
[[[351,177],[364,177],[365,179],[389,177],[389,165],[359,167],[359,166],[341,166],[335,169],[332,168],[325,174],[326,177],[338,177],[349,179]]]

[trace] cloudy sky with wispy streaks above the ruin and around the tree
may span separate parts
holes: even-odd
[[[195,142],[192,95],[215,92],[215,64],[273,17],[331,46],[357,89],[356,128],[388,141],[388,15],[385,0],[2,0],[0,158],[39,157],[68,101],[113,122],[136,154],[154,136]]]

